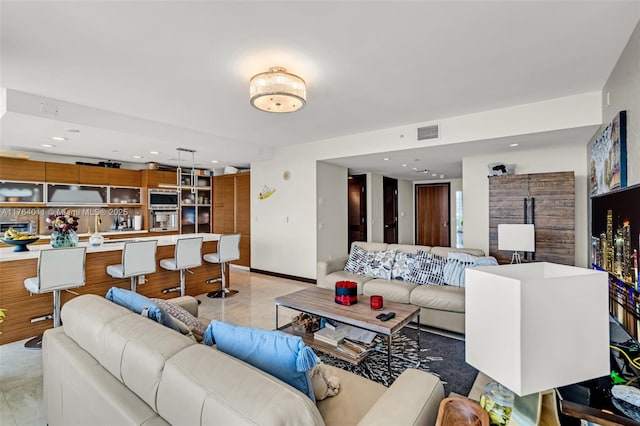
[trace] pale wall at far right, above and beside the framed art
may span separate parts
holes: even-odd
[[[640,183],[640,23],[631,35],[602,93],[603,125],[596,135],[604,130],[619,111],[627,111],[627,185],[635,185]]]

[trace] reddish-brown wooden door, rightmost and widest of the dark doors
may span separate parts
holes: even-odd
[[[416,185],[416,244],[451,245],[449,183]]]

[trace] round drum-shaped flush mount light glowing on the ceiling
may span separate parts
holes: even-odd
[[[266,112],[294,112],[307,103],[303,79],[285,68],[271,67],[249,81],[251,105]]]

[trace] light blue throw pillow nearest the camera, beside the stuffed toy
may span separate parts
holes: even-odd
[[[318,362],[313,350],[302,338],[259,328],[211,321],[205,332],[205,344],[215,338],[218,349],[261,369],[293,386],[315,402],[307,372]]]

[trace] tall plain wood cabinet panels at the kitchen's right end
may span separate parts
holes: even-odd
[[[239,233],[240,260],[238,265],[251,266],[251,175],[215,176],[213,178],[213,232]]]

